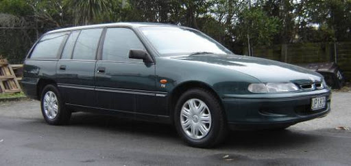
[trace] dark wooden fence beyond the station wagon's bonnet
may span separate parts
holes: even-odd
[[[247,49],[243,50],[247,55]],[[351,81],[351,42],[279,44],[256,46],[254,57],[263,57],[289,64],[308,64],[335,61],[346,80]]]

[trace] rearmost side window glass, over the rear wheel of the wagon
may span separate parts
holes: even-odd
[[[32,51],[31,59],[56,59],[67,33],[52,33],[43,36]]]

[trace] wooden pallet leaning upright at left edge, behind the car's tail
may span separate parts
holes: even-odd
[[[14,70],[6,59],[0,59],[0,93],[21,92]]]

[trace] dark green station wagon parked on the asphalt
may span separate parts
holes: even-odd
[[[210,147],[229,128],[287,128],[330,111],[323,77],[298,66],[234,55],[204,33],[113,23],[45,33],[25,59],[27,96],[49,124],[75,111],[173,124]]]

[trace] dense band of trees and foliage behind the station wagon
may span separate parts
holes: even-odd
[[[120,21],[193,27],[234,53],[247,36],[253,46],[350,41],[350,11],[351,0],[0,0],[0,54],[19,62],[46,31]]]

